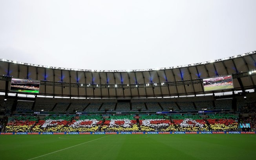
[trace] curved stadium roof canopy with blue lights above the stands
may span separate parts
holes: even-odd
[[[232,75],[234,88],[255,89],[256,51],[196,64],[136,70],[86,70],[0,59],[0,91],[11,78],[40,80],[37,95],[86,98],[149,98],[221,93],[204,91],[203,79]]]

